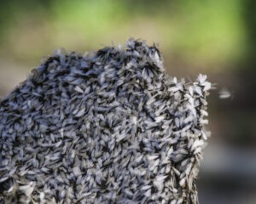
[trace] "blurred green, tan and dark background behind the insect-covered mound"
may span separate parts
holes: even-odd
[[[256,203],[256,1],[0,1],[0,96],[56,48],[93,52],[129,37],[158,42],[171,76],[207,74],[212,137],[201,203]],[[231,97],[219,99],[227,88]]]

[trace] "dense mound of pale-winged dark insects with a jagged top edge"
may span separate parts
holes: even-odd
[[[56,53],[0,101],[0,203],[198,203],[210,88],[141,41]]]

